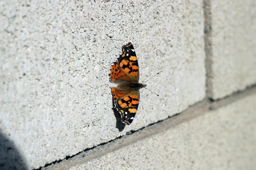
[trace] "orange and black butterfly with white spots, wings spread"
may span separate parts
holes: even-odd
[[[120,113],[121,121],[130,125],[139,106],[139,89],[146,87],[139,83],[139,64],[130,42],[123,45],[122,54],[110,70],[110,81],[120,83],[117,87],[111,87],[114,108]]]

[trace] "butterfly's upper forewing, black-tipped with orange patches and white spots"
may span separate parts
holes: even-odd
[[[139,64],[130,42],[123,46],[123,52],[117,59],[117,65],[129,77],[130,81],[139,81]]]

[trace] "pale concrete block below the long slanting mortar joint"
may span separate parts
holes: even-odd
[[[96,158],[86,163],[66,167],[253,170],[256,167],[255,100],[254,93],[102,157],[95,155]]]

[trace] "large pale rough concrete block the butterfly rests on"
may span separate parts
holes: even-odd
[[[4,146],[12,141],[28,169],[39,168],[166,119],[202,99],[204,55],[197,50],[203,46],[203,15],[201,2],[191,4],[196,9],[179,0],[1,1]],[[147,83],[160,97],[141,90],[135,120],[120,130],[111,109],[108,74],[129,41],[138,57],[140,81],[160,72]]]

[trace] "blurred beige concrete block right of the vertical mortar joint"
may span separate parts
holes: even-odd
[[[218,99],[256,83],[256,1],[205,4],[208,96]]]

